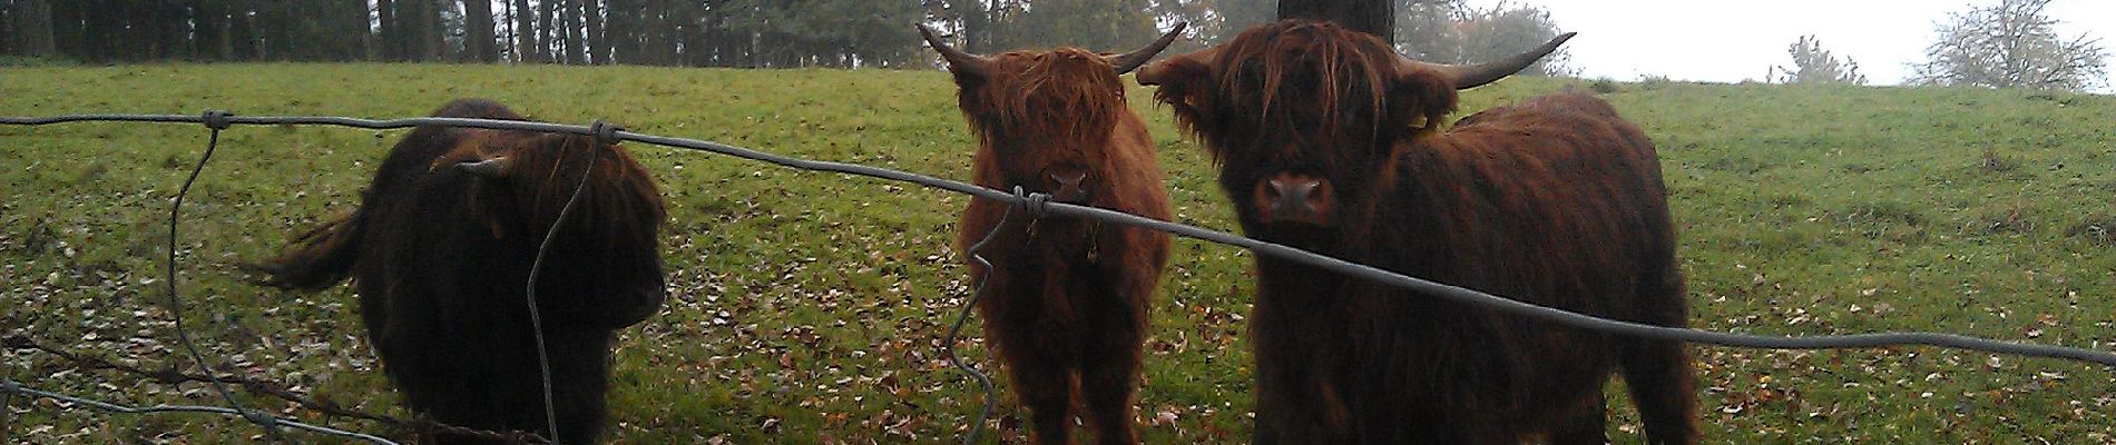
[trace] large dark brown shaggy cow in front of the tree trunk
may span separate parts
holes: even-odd
[[[1437,131],[1488,65],[1280,21],[1141,70],[1204,139],[1248,236],[1595,316],[1686,325],[1653,141],[1587,95]],[[1629,382],[1650,443],[1693,443],[1691,356],[1257,257],[1257,443],[1604,443]]]

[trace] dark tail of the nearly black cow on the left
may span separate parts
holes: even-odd
[[[360,232],[364,232],[364,226],[366,217],[353,211],[294,236],[294,247],[279,253],[279,257],[245,264],[243,268],[262,274],[258,285],[279,289],[320,291],[339,285],[339,280],[345,280],[353,272],[353,262],[360,259]]]

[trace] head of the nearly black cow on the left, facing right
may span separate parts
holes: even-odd
[[[660,224],[652,177],[616,146],[582,135],[478,131],[436,167],[470,181],[468,209],[489,243],[535,255],[573,198],[588,156],[586,190],[552,238],[537,276],[537,306],[557,327],[616,329],[643,321],[664,299]]]

